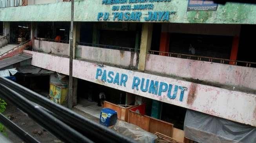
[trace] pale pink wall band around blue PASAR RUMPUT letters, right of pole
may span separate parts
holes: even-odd
[[[104,82],[101,80],[102,76],[96,79],[95,77],[97,68],[102,69],[102,71],[106,70],[107,72],[113,71],[114,74],[118,72],[120,75],[127,75],[128,79],[126,85],[120,86],[118,84]],[[114,68],[111,66],[102,66],[79,60],[73,61],[73,76],[143,97],[159,100],[173,105],[178,105],[195,111],[200,111],[202,113],[211,114],[213,116],[226,118],[228,120],[256,126],[256,95],[254,94],[231,91],[202,84],[195,84],[183,80]],[[181,91],[179,90],[175,99],[169,98],[167,96],[167,93],[163,93],[161,96],[154,95],[149,92],[143,92],[140,88],[139,90],[136,90],[136,88],[132,89],[134,77],[138,77],[140,79],[144,78],[145,80],[151,79],[154,81],[166,82],[172,84],[173,88],[174,84],[180,85],[182,87],[186,87],[187,90],[184,92],[184,97],[182,101],[179,100],[181,93]]]

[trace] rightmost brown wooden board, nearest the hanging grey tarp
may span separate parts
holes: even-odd
[[[160,132],[161,134],[172,137],[172,131],[173,131],[172,123],[164,122],[162,120],[158,120],[151,117],[149,118],[150,118],[149,132],[153,134],[155,132]]]

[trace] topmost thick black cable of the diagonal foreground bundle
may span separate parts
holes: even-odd
[[[84,134],[92,141],[105,141],[107,143],[136,143],[136,141],[133,139],[123,136],[103,125],[84,118],[80,114],[77,114],[63,107],[62,105],[51,102],[42,95],[39,95],[38,93],[35,93],[34,91],[31,91],[11,80],[0,77],[0,83],[3,83],[6,86],[12,88],[14,91],[20,93],[25,98],[35,102],[36,104],[45,107],[45,109],[48,109],[52,112],[51,114],[53,116],[62,120],[64,123],[73,129],[76,129],[81,134]]]

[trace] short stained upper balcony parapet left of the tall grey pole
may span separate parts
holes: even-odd
[[[69,44],[34,40],[33,50],[56,55],[69,55]]]

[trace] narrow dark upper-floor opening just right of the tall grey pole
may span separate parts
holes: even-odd
[[[80,42],[93,43],[93,22],[81,22]]]

